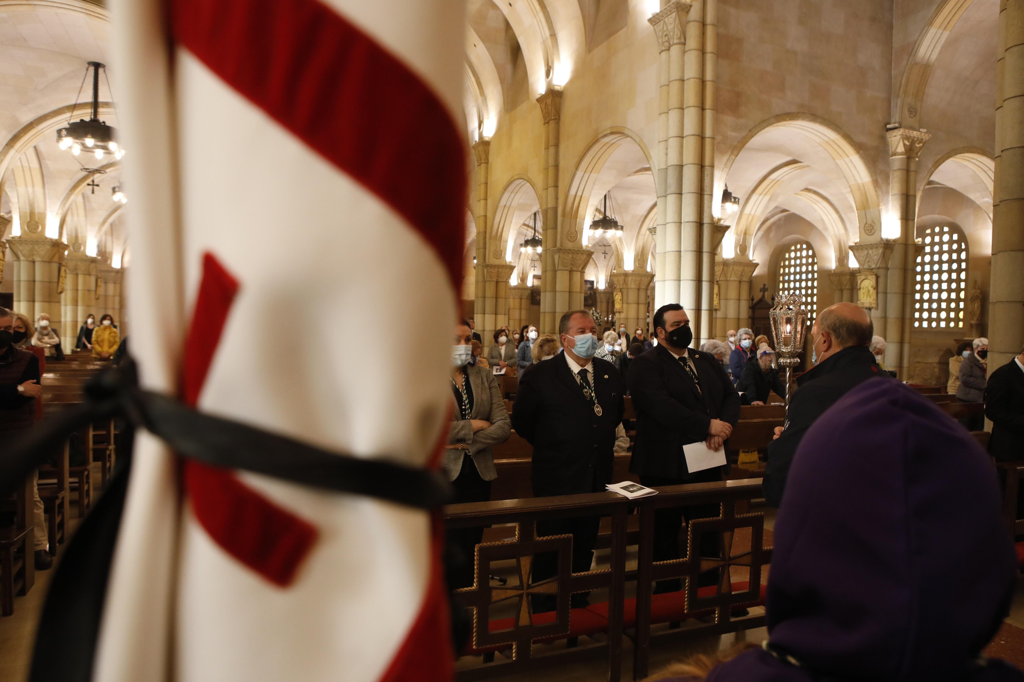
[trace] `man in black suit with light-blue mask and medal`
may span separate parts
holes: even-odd
[[[563,351],[534,365],[519,379],[512,427],[534,446],[534,495],[602,493],[611,482],[615,427],[623,421],[626,385],[611,363],[594,357],[597,325],[586,310],[558,323]],[[538,521],[537,535],[572,535],[572,572],[590,570],[598,517]],[[557,573],[557,555],[534,558],[532,582]],[[572,595],[586,606],[588,595]],[[536,595],[534,610],[554,610],[553,595]]]

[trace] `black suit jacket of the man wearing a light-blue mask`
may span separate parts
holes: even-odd
[[[604,492],[611,482],[615,427],[623,421],[626,384],[611,363],[594,358],[601,415],[584,397],[560,352],[519,378],[512,428],[534,446],[534,495]]]

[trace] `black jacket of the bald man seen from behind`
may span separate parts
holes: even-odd
[[[782,502],[790,465],[811,424],[851,388],[877,377],[891,379],[879,368],[867,346],[844,348],[797,377],[799,388],[790,399],[782,435],[768,443],[763,485],[769,505],[778,507]]]

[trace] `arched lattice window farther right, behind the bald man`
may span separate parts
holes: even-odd
[[[967,291],[967,240],[957,227],[925,230],[914,273],[913,326],[963,329]]]

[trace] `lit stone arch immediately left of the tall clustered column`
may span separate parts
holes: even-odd
[[[621,167],[609,167],[609,162]],[[652,174],[656,197],[654,178],[657,174],[643,139],[629,128],[615,127],[602,131],[581,156],[565,189],[558,244],[580,248],[587,221],[604,194],[618,181],[644,168]]]

